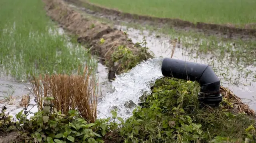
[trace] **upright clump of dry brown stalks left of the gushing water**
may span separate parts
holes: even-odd
[[[97,117],[98,83],[96,84],[91,72],[92,69],[89,70],[86,66],[82,75],[40,74],[38,78],[30,77],[38,111],[43,110],[44,99],[52,97],[52,106],[62,114],[77,110],[88,122],[94,122]]]

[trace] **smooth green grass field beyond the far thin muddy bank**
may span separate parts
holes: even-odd
[[[89,0],[122,12],[180,18],[190,22],[248,24],[256,22],[255,0]]]

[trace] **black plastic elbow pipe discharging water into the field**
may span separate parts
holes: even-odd
[[[201,86],[198,99],[206,104],[218,106],[222,101],[220,79],[209,65],[165,58],[162,61],[162,74],[198,82]]]

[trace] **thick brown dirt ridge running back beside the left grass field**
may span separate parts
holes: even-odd
[[[120,45],[125,45],[135,55],[137,62],[152,58],[148,52],[141,56],[140,47],[128,40],[128,37],[118,29],[112,29],[106,24],[88,20],[78,12],[71,10],[62,0],[43,0],[46,11],[52,20],[58,22],[64,29],[79,36],[79,43],[89,43],[93,54],[98,55],[101,62],[109,67],[109,78],[115,77],[114,73],[127,69],[121,66],[120,61],[113,61],[112,55]],[[136,62],[130,61],[130,62]],[[121,68],[120,68],[121,67]]]

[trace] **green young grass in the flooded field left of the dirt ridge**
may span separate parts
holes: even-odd
[[[41,0],[0,1],[0,70],[26,79],[30,74],[76,72],[91,55],[82,47],[69,48],[68,39],[57,32]]]

